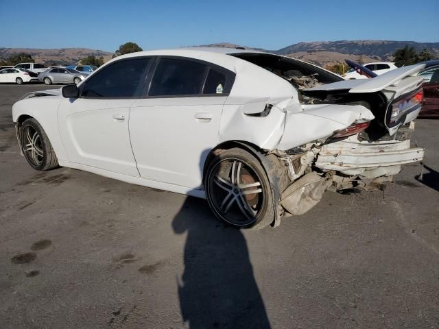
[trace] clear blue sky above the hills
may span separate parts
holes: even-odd
[[[361,1],[0,0],[0,47],[86,47],[124,42],[160,49],[213,42],[279,49],[300,41],[439,42],[439,0]]]

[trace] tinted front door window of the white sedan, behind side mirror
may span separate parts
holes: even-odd
[[[119,60],[88,80],[83,97],[134,97],[150,58]]]

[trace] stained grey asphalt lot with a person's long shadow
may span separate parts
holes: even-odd
[[[55,86],[52,88],[59,88]],[[384,192],[327,192],[278,228],[19,154],[0,86],[0,328],[439,328],[439,120]]]

